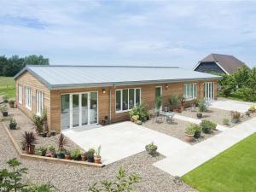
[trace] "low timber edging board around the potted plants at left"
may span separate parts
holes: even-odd
[[[12,134],[9,131],[9,128],[7,125],[5,125],[4,122],[1,122],[3,125],[4,130],[6,131],[11,143],[14,145],[16,152],[19,154],[21,159],[30,159],[30,160],[43,160],[47,162],[55,162],[55,163],[62,163],[62,164],[68,164],[68,165],[78,165],[78,166],[90,166],[90,167],[98,167],[101,168],[105,165],[103,164],[96,164],[96,163],[89,163],[86,161],[78,161],[78,160],[64,160],[64,159],[57,159],[57,158],[51,158],[51,157],[45,157],[45,156],[38,156],[35,154],[24,154],[20,150],[19,145],[15,142],[15,138],[12,136]]]

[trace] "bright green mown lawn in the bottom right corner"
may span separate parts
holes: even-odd
[[[183,181],[200,192],[255,192],[255,145],[253,134],[184,175]]]

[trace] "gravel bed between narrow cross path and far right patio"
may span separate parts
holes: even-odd
[[[186,110],[184,110],[182,113],[178,113],[180,115],[186,116],[186,117],[190,117],[190,118],[194,118],[194,119],[198,119],[196,117],[196,111],[195,112],[191,112],[189,110],[189,108],[187,108]],[[221,110],[221,109],[217,109],[217,108],[209,108],[207,110],[207,112],[203,113],[203,117],[201,118],[201,120],[203,119],[208,119],[211,120],[212,122],[218,124],[218,125],[224,125],[224,119],[229,119],[229,125],[224,125],[227,127],[233,127],[235,125],[240,124],[241,122],[244,122],[248,119],[252,119],[253,117],[256,116],[256,113],[250,113],[250,117],[248,117],[245,114],[241,114],[241,119],[237,124],[234,124],[231,122],[231,113],[230,111],[227,110]]]

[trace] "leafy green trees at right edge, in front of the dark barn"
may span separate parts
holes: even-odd
[[[256,68],[241,67],[230,75],[221,74],[219,94],[233,96],[247,102],[256,102]]]

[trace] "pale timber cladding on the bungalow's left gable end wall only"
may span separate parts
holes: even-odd
[[[19,103],[19,85],[22,86],[22,104]],[[31,73],[25,72],[15,82],[16,87],[16,104],[17,108],[26,113],[26,115],[32,118],[32,114],[37,112],[37,90],[44,92],[44,110],[47,113],[48,126],[50,127],[50,101],[49,101],[49,90],[42,84],[38,79],[36,79]],[[25,87],[32,89],[32,110],[26,108],[26,90]]]

